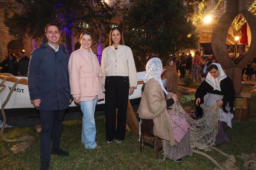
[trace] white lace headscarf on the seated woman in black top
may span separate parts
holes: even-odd
[[[211,76],[210,72],[208,72],[205,81],[213,87],[213,90],[218,90],[221,92],[220,81],[223,80],[224,78],[226,78],[227,75],[224,73],[220,64],[218,64],[218,63],[213,63],[213,64],[217,65],[218,71],[219,71],[219,76],[217,78],[213,78],[213,76]]]

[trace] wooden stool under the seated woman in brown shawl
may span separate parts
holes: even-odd
[[[160,146],[159,146],[159,143],[160,143]],[[143,133],[141,133],[141,135],[140,135],[140,152],[141,152],[141,154],[143,152],[144,145],[154,148],[154,153],[155,153],[154,158],[158,159],[158,152],[163,150],[161,139],[158,136],[152,136],[151,139],[145,141],[144,135],[143,135]]]

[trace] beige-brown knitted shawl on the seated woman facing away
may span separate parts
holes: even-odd
[[[168,92],[167,99],[169,98],[171,93]],[[149,79],[145,84],[138,113],[141,119],[153,119],[154,135],[170,141],[171,146],[174,145],[173,128],[166,109],[164,93],[154,78]]]

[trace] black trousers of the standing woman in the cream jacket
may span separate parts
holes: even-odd
[[[129,95],[128,76],[106,76],[105,80],[106,140],[124,140]],[[116,108],[118,109],[116,121]],[[117,122],[117,124],[116,124]]]

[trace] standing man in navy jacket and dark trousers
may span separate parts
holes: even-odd
[[[49,169],[51,153],[69,156],[68,152],[60,149],[60,136],[64,112],[71,102],[69,54],[63,45],[58,44],[58,26],[47,24],[45,35],[48,40],[43,41],[39,48],[32,51],[28,68],[30,99],[40,110],[41,170]]]

